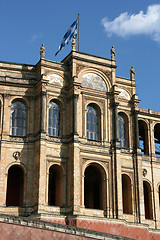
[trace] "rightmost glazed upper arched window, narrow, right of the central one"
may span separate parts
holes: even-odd
[[[120,147],[127,147],[127,139],[126,139],[126,120],[124,116],[118,114],[118,125],[119,125],[119,140]]]

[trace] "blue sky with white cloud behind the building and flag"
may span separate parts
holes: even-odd
[[[71,46],[55,52],[78,13],[80,51],[110,58],[114,45],[116,75],[129,78],[133,65],[139,106],[160,110],[158,0],[1,1],[0,61],[36,64],[42,43],[47,59],[61,61]]]

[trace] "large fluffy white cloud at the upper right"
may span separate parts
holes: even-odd
[[[138,14],[121,13],[113,21],[102,19],[102,24],[108,36],[116,34],[120,37],[131,35],[150,35],[151,38],[160,42],[160,4],[151,5],[146,14],[140,11]]]

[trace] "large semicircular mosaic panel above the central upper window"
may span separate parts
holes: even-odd
[[[92,88],[98,91],[107,91],[104,80],[95,73],[87,73],[81,78],[82,87]]]

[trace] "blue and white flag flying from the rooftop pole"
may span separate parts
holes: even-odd
[[[65,45],[67,45],[69,42],[71,42],[71,40],[74,36],[75,36],[75,38],[77,38],[77,28],[78,28],[78,19],[76,21],[74,21],[74,23],[72,23],[72,25],[70,26],[70,28],[64,35],[61,45],[59,46],[58,51],[56,52],[55,55],[57,55],[62,50],[62,48],[65,47]]]

